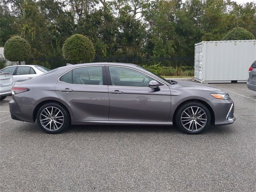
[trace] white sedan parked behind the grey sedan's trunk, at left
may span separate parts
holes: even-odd
[[[14,65],[3,68],[4,73],[11,73],[14,82],[17,80],[32,79],[40,74],[50,71],[50,69],[39,65]]]

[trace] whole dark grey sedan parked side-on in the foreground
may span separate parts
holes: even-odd
[[[48,133],[72,125],[166,125],[196,134],[235,121],[234,103],[204,84],[168,81],[134,64],[88,63],[60,67],[16,82],[13,119],[37,121]]]

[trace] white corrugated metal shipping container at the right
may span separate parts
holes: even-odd
[[[201,83],[246,82],[256,60],[256,40],[195,44],[194,79]]]

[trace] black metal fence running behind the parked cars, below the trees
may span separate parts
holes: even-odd
[[[193,76],[194,58],[95,58],[94,62],[122,62],[132,63],[142,66],[161,76]],[[5,58],[0,58],[0,69],[6,66],[26,64],[40,65],[54,69],[66,66],[63,58],[32,58],[23,62],[10,62]],[[71,63],[71,62],[70,62]]]

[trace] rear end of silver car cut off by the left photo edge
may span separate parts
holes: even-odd
[[[6,96],[12,94],[13,84],[14,80],[12,74],[0,71],[0,101],[4,100]]]

